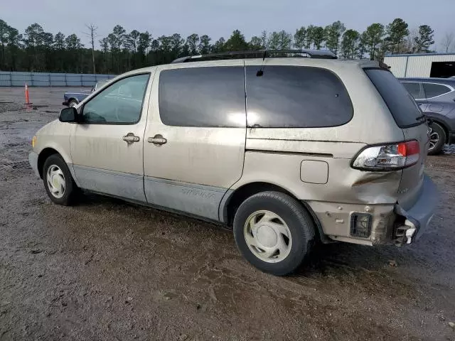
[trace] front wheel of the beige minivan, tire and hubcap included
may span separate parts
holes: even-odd
[[[52,154],[45,160],[43,183],[50,200],[55,204],[68,206],[74,202],[78,188],[59,154]]]

